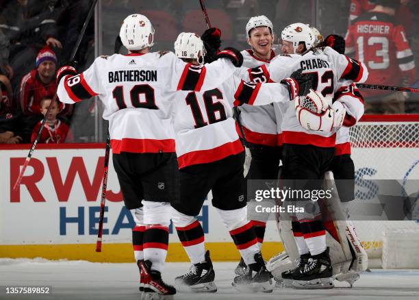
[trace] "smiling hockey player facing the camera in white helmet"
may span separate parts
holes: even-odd
[[[251,49],[242,51],[243,67],[249,68],[249,77],[254,82],[270,82],[266,65],[275,58],[272,50],[274,32],[272,22],[264,15],[253,16],[246,24],[246,38]],[[241,76],[236,73],[236,75]],[[252,106],[244,104],[239,108],[240,126],[251,153],[251,162],[246,179],[276,179],[281,158],[281,134],[273,105]],[[262,249],[266,221],[253,221],[257,242]],[[241,259],[236,274],[246,270]]]

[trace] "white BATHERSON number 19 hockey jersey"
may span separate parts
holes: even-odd
[[[175,152],[170,116],[177,90],[211,90],[236,68],[227,59],[194,66],[172,52],[101,56],[83,73],[60,80],[64,103],[99,96],[113,153]]]

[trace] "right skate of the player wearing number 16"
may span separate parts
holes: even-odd
[[[231,284],[240,292],[272,292],[272,274],[266,270],[262,254],[255,254],[255,263],[249,264],[243,275],[234,278]]]

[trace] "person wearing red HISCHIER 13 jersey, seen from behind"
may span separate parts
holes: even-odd
[[[352,21],[346,34],[346,54],[364,62],[367,84],[409,86],[416,80],[414,55],[405,29],[394,18],[398,1],[377,0],[374,9]],[[367,113],[405,112],[405,93],[363,90]]]

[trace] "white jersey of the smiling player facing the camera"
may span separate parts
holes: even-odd
[[[259,60],[253,55],[252,50],[244,50],[241,53],[244,58],[243,67],[249,69],[246,74],[249,81],[272,82],[266,65],[270,63],[272,58],[275,58],[273,51],[270,60]],[[238,73],[236,75],[240,76]],[[243,79],[246,80],[246,77],[243,77]],[[277,119],[271,104],[262,106],[244,104],[239,110],[240,122],[247,142],[271,147],[278,145]]]

